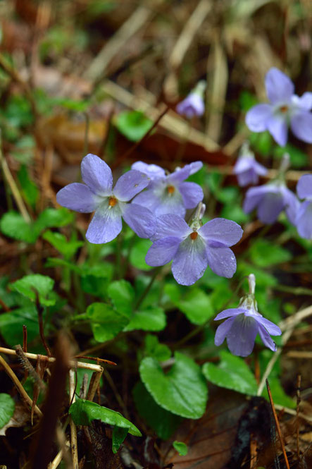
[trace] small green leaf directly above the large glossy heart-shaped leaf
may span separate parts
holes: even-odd
[[[166,327],[166,314],[162,307],[149,306],[144,310],[133,312],[129,324],[125,327],[125,331],[134,331],[141,329],[142,331],[161,331]]]

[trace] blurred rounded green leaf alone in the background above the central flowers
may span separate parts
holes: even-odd
[[[141,140],[152,126],[153,121],[141,111],[123,111],[116,118],[116,127],[132,142]]]

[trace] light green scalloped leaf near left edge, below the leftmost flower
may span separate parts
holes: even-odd
[[[49,293],[53,290],[54,280],[51,277],[41,274],[25,275],[23,279],[17,280],[9,284],[12,291],[18,291],[22,295],[36,300],[36,290],[39,293],[39,302],[44,306],[55,304],[55,299],[49,298]],[[48,298],[47,298],[48,297]]]

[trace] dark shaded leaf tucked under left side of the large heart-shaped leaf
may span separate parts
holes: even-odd
[[[169,439],[182,422],[182,418],[158,406],[141,381],[135,385],[133,397],[139,415],[155,430],[158,437]]]

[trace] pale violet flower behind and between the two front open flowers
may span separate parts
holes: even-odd
[[[139,167],[143,168],[141,165],[144,163],[137,163],[140,163]],[[151,174],[151,171],[154,171],[157,175],[161,174],[160,171],[156,171],[155,164],[146,164],[146,166],[148,166],[145,169],[148,176]],[[154,169],[151,170],[150,166],[154,166]],[[198,184],[184,182],[191,174],[199,171],[201,166],[203,166],[202,162],[194,162],[186,164],[183,168],[176,168],[168,176],[154,176],[148,188],[138,194],[132,203],[147,207],[157,217],[170,213],[184,217],[186,209],[193,209],[204,198],[203,190]],[[159,166],[157,167],[161,170]]]

